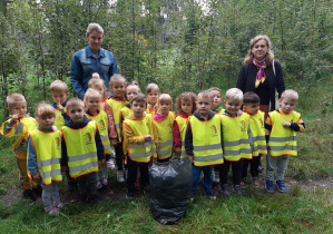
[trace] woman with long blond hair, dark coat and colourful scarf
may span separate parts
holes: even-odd
[[[273,64],[274,62],[274,64]],[[275,90],[278,97],[284,91],[282,68],[278,61],[274,61],[271,50],[271,40],[265,35],[253,38],[249,50],[241,69],[237,88],[244,94],[254,91],[261,98],[261,110],[267,113],[275,109]]]

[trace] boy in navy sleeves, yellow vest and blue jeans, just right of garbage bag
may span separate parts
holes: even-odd
[[[223,164],[221,117],[210,109],[213,95],[208,90],[197,96],[197,110],[189,117],[185,135],[186,154],[193,163],[193,198],[204,172],[204,187],[209,199],[215,199],[212,191],[212,165]]]

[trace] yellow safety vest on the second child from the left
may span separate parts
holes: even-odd
[[[61,182],[61,133],[59,130],[42,131],[35,129],[30,133],[36,156],[38,172],[41,181],[49,185],[52,181]],[[32,179],[31,172],[28,170],[32,184],[36,186],[38,182]]]

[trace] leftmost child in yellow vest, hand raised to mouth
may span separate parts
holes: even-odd
[[[23,188],[23,197],[36,201],[31,191],[30,181],[27,174],[27,149],[28,134],[37,127],[35,118],[27,116],[27,101],[20,94],[11,94],[7,97],[8,111],[12,117],[1,125],[1,134],[8,138],[12,145],[16,159],[20,169],[20,179]],[[40,188],[33,189],[38,194]]]

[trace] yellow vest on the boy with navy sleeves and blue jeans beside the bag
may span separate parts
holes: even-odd
[[[202,121],[195,116],[189,117],[193,135],[193,154],[195,166],[223,164],[221,143],[221,117],[215,115]]]

